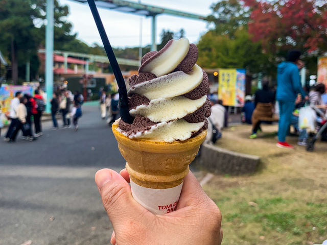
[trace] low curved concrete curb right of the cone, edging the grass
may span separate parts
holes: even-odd
[[[215,174],[242,175],[254,173],[260,163],[260,157],[204,143],[201,146],[199,163]]]

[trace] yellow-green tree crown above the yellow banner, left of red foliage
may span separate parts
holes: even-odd
[[[234,34],[233,38],[215,31],[204,34],[198,43],[197,63],[205,68],[246,68],[252,73],[268,74],[272,67],[269,57],[262,53],[261,43],[253,43],[244,27]]]

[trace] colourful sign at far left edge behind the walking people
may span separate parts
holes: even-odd
[[[10,102],[17,91],[33,95],[33,88],[28,85],[2,85],[0,87],[0,108],[3,114],[0,119],[5,125],[8,124],[8,120],[4,115],[9,115]]]

